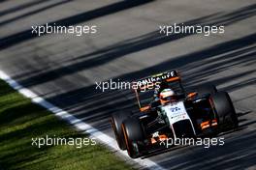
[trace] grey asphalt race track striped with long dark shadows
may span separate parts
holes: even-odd
[[[187,87],[228,91],[240,129],[225,145],[180,148],[149,158],[167,169],[255,169],[256,1],[0,1],[0,69],[40,97],[113,137],[109,117],[133,107],[128,91],[95,82],[178,70]],[[31,26],[95,24],[96,35],[31,36]],[[159,25],[225,25],[225,34],[159,35]]]

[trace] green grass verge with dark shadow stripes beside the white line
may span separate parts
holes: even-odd
[[[3,169],[132,169],[102,145],[32,146],[36,137],[85,138],[0,80],[0,165]]]

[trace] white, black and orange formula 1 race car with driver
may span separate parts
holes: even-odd
[[[139,111],[112,114],[112,128],[121,150],[144,156],[173,138],[212,136],[238,128],[228,93],[214,85],[184,90],[177,71],[166,71],[135,82]]]

